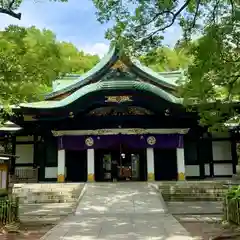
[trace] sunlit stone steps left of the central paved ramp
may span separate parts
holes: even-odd
[[[73,213],[85,190],[80,183],[14,184],[21,222],[54,223]]]

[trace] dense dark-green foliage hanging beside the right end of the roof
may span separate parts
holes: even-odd
[[[212,130],[224,129],[230,119],[240,120],[239,44],[240,32],[226,22],[206,28],[191,46],[194,60],[179,90],[187,106],[198,105],[201,123]]]

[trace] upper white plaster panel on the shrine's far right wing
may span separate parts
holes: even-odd
[[[230,141],[213,141],[213,161],[214,160],[232,160]]]

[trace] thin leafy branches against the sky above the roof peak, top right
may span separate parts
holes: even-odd
[[[239,0],[93,0],[101,23],[113,21],[106,37],[137,50],[148,52],[159,46],[169,27],[180,26],[184,36],[199,34],[222,16],[237,17]],[[133,51],[134,50],[134,51]],[[138,52],[139,53],[139,52]]]

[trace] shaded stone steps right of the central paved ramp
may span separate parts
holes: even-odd
[[[222,201],[228,184],[224,181],[161,182],[158,189],[165,201]]]

